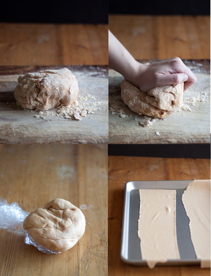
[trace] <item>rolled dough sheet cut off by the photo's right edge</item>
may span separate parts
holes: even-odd
[[[182,196],[191,240],[201,267],[210,267],[210,180],[194,180]]]

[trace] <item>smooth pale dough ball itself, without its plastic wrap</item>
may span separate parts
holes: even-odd
[[[85,231],[81,210],[64,199],[54,199],[24,220],[24,230],[43,247],[62,252],[73,247]]]

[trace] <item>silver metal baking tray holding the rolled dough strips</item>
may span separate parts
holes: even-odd
[[[191,240],[189,218],[182,202],[182,195],[192,181],[130,181],[125,184],[121,246],[121,259],[123,261],[132,265],[147,265],[141,256],[138,236],[139,189],[173,189],[176,190],[176,235],[180,259],[170,259],[165,263],[157,263],[156,265],[200,265],[200,260],[196,258]]]

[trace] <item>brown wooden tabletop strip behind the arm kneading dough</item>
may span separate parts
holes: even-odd
[[[109,15],[109,29],[136,60],[210,59],[210,16]]]

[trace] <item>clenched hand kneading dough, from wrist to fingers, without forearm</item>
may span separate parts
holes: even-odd
[[[196,82],[196,76],[185,66],[179,57],[143,65],[137,62],[136,69],[130,74],[131,83],[143,92],[168,84],[184,82],[184,91]]]

